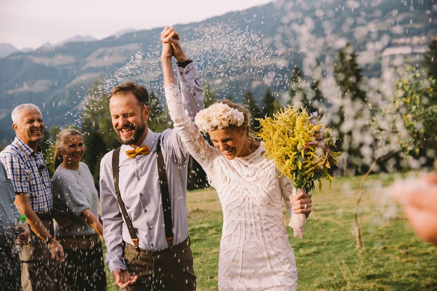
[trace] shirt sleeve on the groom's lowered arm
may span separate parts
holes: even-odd
[[[112,154],[107,153],[100,164],[100,203],[103,221],[103,238],[106,244],[105,260],[109,270],[127,270],[123,259],[123,239],[121,237],[123,217],[121,216],[112,177]]]

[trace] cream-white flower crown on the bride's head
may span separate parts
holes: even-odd
[[[234,126],[241,126],[244,122],[244,114],[227,104],[215,103],[210,107],[201,110],[194,117],[194,123],[202,132],[214,129],[225,129]]]

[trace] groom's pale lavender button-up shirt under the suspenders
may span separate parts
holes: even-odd
[[[194,63],[184,68],[177,67],[182,87],[185,109],[191,118],[203,109],[203,90]],[[161,139],[161,150],[166,164],[170,190],[170,203],[173,218],[174,244],[188,237],[186,221],[186,179],[188,151],[175,129],[162,133],[149,132],[140,146],[149,146],[148,155],[137,155],[130,159],[125,151],[133,149],[123,145],[120,150],[119,188],[132,224],[136,229],[139,246],[142,249],[157,251],[168,248],[164,214],[161,203],[161,190],[158,182],[156,145]],[[126,224],[123,221],[114,190],[112,175],[112,154],[107,153],[100,166],[101,217],[103,237],[107,248],[106,263],[112,272],[115,268],[126,270],[122,243],[133,244]]]

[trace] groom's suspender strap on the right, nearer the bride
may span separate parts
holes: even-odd
[[[156,158],[158,162],[158,174],[159,184],[161,187],[161,199],[162,208],[164,210],[164,226],[166,229],[166,240],[168,246],[173,245],[173,223],[171,221],[171,206],[170,206],[170,193],[168,190],[168,181],[166,174],[166,165],[161,151],[161,138],[158,139],[158,145],[156,147]]]

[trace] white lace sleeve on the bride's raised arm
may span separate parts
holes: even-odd
[[[208,144],[194,124],[194,121],[186,116],[179,87],[170,84],[165,86],[164,89],[168,113],[170,114],[171,121],[173,121],[174,128],[178,130],[181,140],[190,155],[199,162],[208,174],[211,162],[218,155],[217,150]]]

